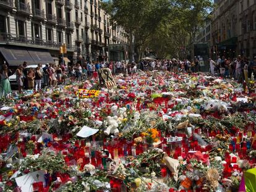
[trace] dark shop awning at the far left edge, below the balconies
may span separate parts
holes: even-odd
[[[20,65],[26,61],[28,64],[35,64],[27,49],[22,48],[0,48],[0,52],[9,65]]]

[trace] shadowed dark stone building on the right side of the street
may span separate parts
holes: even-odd
[[[217,56],[256,55],[256,0],[218,0],[212,12],[211,50]]]

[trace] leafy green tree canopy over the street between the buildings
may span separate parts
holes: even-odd
[[[182,57],[211,9],[210,0],[111,0],[102,2],[111,22],[129,33],[130,59],[145,48],[158,57]],[[186,48],[181,52],[181,47]]]

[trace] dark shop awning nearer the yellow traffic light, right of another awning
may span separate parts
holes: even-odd
[[[54,63],[53,57],[48,51],[43,50],[28,50],[30,56],[35,61],[35,64],[51,64]]]

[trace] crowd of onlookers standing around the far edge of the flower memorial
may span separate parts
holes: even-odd
[[[248,83],[252,78],[252,73],[256,77],[256,56],[253,61],[245,57],[238,56],[230,59],[218,56],[216,61],[209,59],[210,72],[212,76],[220,76],[223,78],[235,78],[239,83]],[[137,70],[145,72],[152,70],[168,70],[169,72],[200,72],[200,63],[197,59],[189,61],[184,59],[165,59],[165,60],[144,60],[138,64],[135,62],[80,62],[74,65],[67,66],[66,64],[38,64],[35,69],[30,68],[27,62],[15,70],[17,86],[19,93],[22,93],[23,88],[28,90],[41,90],[43,86],[57,86],[65,84],[66,78],[69,77],[73,83],[75,81],[83,81],[90,78],[98,78],[98,70],[101,68],[109,68],[113,75],[124,73],[129,75],[136,73]],[[8,78],[8,67],[2,65],[1,69],[1,84],[0,84],[0,99],[5,98],[11,93],[11,85]]]

